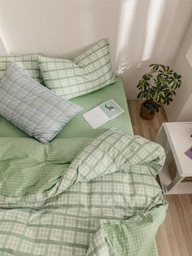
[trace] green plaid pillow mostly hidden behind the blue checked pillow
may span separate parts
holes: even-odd
[[[30,77],[37,82],[41,82],[40,68],[37,62],[38,55],[7,55],[0,56],[0,78],[6,72],[11,62],[15,62],[20,68],[23,68]]]

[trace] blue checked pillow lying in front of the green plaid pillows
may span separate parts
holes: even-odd
[[[0,115],[41,143],[54,139],[80,110],[79,105],[41,86],[15,63],[0,81]]]

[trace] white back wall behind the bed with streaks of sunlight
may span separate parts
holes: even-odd
[[[0,38],[9,54],[70,59],[110,38],[113,68],[134,99],[149,64],[175,60],[191,13],[191,0],[0,0]]]

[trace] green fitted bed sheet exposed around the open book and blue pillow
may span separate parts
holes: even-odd
[[[98,104],[102,104],[108,99],[114,99],[116,103],[124,109],[124,113],[119,117],[108,121],[103,126],[98,127],[98,129],[93,130],[87,121],[85,121],[85,118],[82,117],[82,114]],[[88,95],[76,97],[71,99],[71,101],[81,105],[83,110],[63,127],[63,130],[59,132],[59,135],[57,135],[56,138],[94,138],[113,126],[118,130],[122,130],[125,134],[133,135],[127,99],[124,94],[124,84],[120,78],[115,84],[106,86],[101,90],[96,90]],[[7,121],[0,116],[0,137],[28,137],[28,135],[11,124],[10,121]]]

